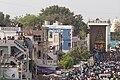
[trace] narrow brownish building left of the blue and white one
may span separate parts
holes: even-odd
[[[34,44],[34,60],[39,64],[47,64],[48,28],[34,27],[32,37]]]

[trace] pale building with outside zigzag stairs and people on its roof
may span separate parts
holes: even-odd
[[[0,27],[0,78],[30,79],[32,48],[21,27]]]

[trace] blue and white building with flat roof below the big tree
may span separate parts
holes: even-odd
[[[48,41],[50,47],[63,52],[68,52],[72,49],[72,26],[59,25],[58,21],[53,25],[45,24],[43,27],[48,27]]]

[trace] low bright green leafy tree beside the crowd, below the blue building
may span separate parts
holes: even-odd
[[[89,59],[89,52],[86,47],[77,47],[68,53],[62,54],[59,65],[66,69],[72,68],[74,64],[78,64],[80,61]]]

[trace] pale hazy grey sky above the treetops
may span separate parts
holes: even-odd
[[[69,8],[74,14],[89,19],[120,19],[120,0],[0,0],[0,11],[12,18],[25,14],[38,15],[41,9],[58,5]]]

